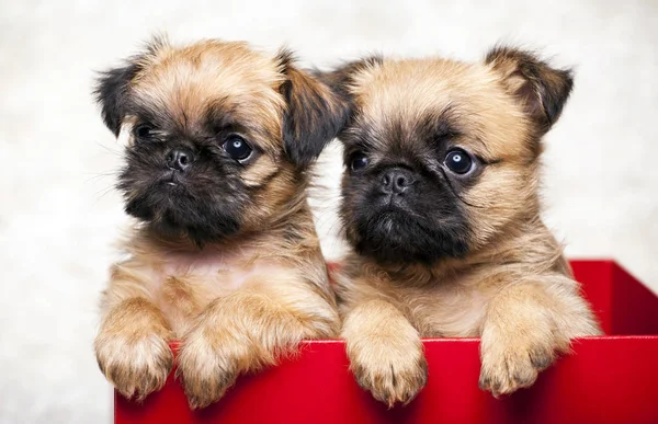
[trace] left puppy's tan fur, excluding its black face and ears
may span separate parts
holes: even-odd
[[[283,160],[284,64],[245,43],[215,41],[157,43],[140,60],[132,81],[137,102],[188,130],[220,104],[263,151],[241,173],[252,197],[238,234],[200,250],[136,224],[102,296],[95,352],[117,390],[141,400],[161,388],[173,364],[168,342],[178,339],[178,376],[190,405],[202,408],[239,374],[275,364],[302,340],[337,336],[339,317],[307,176]],[[124,137],[134,123],[125,119]]]

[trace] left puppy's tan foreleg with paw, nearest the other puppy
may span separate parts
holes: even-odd
[[[222,397],[237,376],[290,354],[305,339],[332,337],[336,311],[291,273],[254,275],[243,289],[215,299],[183,337],[179,357],[192,408]]]

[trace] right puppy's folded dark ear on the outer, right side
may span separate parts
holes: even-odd
[[[502,77],[506,89],[522,102],[540,134],[548,131],[571,93],[572,71],[554,69],[531,53],[502,46],[494,47],[485,62]]]

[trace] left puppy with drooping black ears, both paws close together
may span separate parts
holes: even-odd
[[[339,331],[305,188],[342,125],[331,90],[246,43],[151,42],[95,90],[126,145],[118,190],[135,224],[112,267],[101,370],[143,400],[171,371],[191,408],[305,339]]]

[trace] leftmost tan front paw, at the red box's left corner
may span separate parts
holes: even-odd
[[[156,334],[100,334],[94,348],[101,371],[126,398],[143,401],[160,390],[173,365],[167,341]]]

